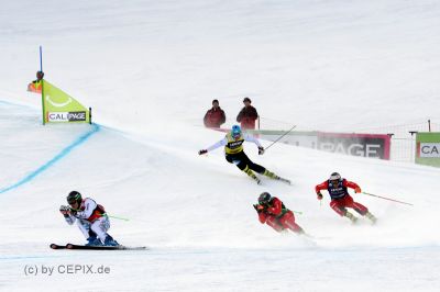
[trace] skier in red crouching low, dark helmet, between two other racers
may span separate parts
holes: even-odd
[[[304,234],[302,228],[295,223],[294,212],[268,192],[260,194],[258,204],[255,204],[254,209],[258,213],[258,220],[262,224],[266,223],[277,232],[290,229],[296,234]]]

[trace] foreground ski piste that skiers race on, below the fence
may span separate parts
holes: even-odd
[[[32,172],[90,131],[84,125],[37,126],[37,111],[1,105],[2,112],[24,116],[2,130],[11,147],[2,147],[1,161],[14,157],[23,165],[8,171],[2,187]],[[2,124],[12,116],[3,115]],[[257,157],[253,145],[246,145],[253,159],[295,182],[289,187],[264,180],[256,186],[228,165],[221,151],[196,155],[198,145],[220,138],[220,133],[189,130],[197,133],[195,138],[175,147],[166,137],[130,136],[99,126],[84,144],[29,183],[1,193],[1,234],[8,236],[0,244],[0,289],[29,291],[47,283],[51,291],[289,291],[292,287],[295,291],[350,291],[362,283],[365,291],[437,290],[440,236],[433,231],[440,202],[430,186],[438,181],[439,170],[287,145]],[[38,159],[24,158],[29,145],[37,145],[32,155]],[[380,222],[352,226],[336,216],[328,200],[320,206],[315,199],[315,183],[336,166],[364,190],[397,195],[415,206],[355,195]],[[57,211],[73,189],[103,203],[110,215],[130,217],[129,222],[112,220],[111,234],[117,239],[125,245],[146,244],[152,250],[50,250],[52,242],[84,242]],[[262,191],[302,211],[297,222],[318,239],[277,235],[261,225],[252,203]],[[25,276],[30,265],[55,271],[52,276]],[[66,274],[66,265],[105,266],[110,274],[85,274],[85,270]]]

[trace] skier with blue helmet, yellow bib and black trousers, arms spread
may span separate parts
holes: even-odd
[[[248,176],[253,178],[258,184],[261,181],[253,171],[270,177],[272,179],[282,180],[284,182],[290,183],[289,180],[283,179],[275,173],[268,171],[266,168],[252,162],[251,159],[249,159],[248,155],[243,151],[243,142],[245,141],[255,143],[256,146],[258,146],[258,154],[264,154],[264,148],[256,138],[246,133],[242,133],[240,126],[234,125],[223,139],[219,141],[207,149],[199,150],[199,155],[224,146],[224,155],[228,162],[237,165],[240,170],[246,172]]]

